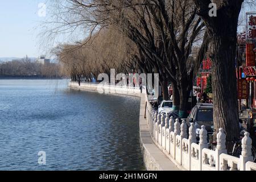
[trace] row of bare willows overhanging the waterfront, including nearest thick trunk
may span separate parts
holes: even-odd
[[[210,16],[216,3],[217,16]],[[55,0],[45,35],[88,37],[55,49],[74,80],[98,73],[159,73],[164,99],[174,88],[174,106],[186,117],[193,78],[206,53],[213,61],[214,126],[228,144],[239,135],[236,85],[237,24],[243,0]],[[57,11],[56,11],[57,9]],[[51,27],[51,28],[49,28]]]

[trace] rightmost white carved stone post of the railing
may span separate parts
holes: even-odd
[[[251,146],[253,140],[250,138],[250,133],[246,132],[242,139],[242,155],[240,156],[240,171],[245,171],[247,162],[253,162]]]

